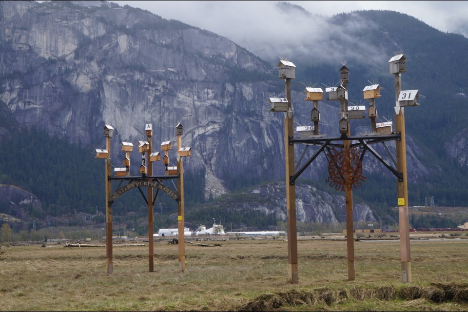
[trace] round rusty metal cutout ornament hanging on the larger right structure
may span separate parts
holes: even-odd
[[[350,155],[344,153],[343,149],[333,148],[327,154],[330,157],[328,164],[329,177],[325,180],[337,191],[345,191],[345,188],[352,190],[362,186],[366,177],[362,175],[362,151],[356,147],[351,149]]]

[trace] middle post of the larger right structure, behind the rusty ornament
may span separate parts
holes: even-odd
[[[340,70],[340,83],[347,90],[349,81],[349,70],[343,66]],[[348,118],[348,99],[345,97],[340,100],[342,118],[347,119],[348,131],[347,137],[351,136],[351,126]],[[347,170],[351,169],[351,141],[343,141],[343,168]],[[345,172],[346,181],[351,179],[348,177],[349,172]],[[348,280],[352,281],[356,278],[356,272],[354,269],[354,234],[353,234],[353,215],[352,215],[352,185],[345,185],[345,196],[346,196],[346,243],[348,248]]]

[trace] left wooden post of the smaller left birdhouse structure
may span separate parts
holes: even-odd
[[[110,198],[112,195],[112,183],[109,180],[111,176],[111,137],[106,137],[106,263],[107,274],[112,274],[112,204]]]

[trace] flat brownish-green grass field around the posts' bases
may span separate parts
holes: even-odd
[[[412,282],[401,282],[398,240],[357,241],[356,280],[348,281],[346,241],[298,239],[298,284],[288,283],[279,239],[186,244],[2,247],[1,311],[468,311],[468,239],[411,240]]]

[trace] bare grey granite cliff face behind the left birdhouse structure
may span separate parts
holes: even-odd
[[[183,145],[193,150],[184,169],[205,173],[206,197],[246,181],[284,179],[284,116],[267,104],[284,91],[275,64],[214,33],[105,1],[1,1],[0,16],[0,106],[18,124],[90,150],[103,146],[102,128],[112,125],[118,166],[124,156],[119,144],[145,138],[146,123],[153,125],[157,150],[160,142],[175,139],[180,122]],[[311,106],[304,94],[292,97],[295,120],[308,124]],[[338,110],[320,103],[326,120],[321,133],[338,132]],[[409,176],[424,176],[429,170],[410,138],[408,145]],[[136,164],[139,156],[132,159]],[[316,179],[327,164],[319,157],[303,177]],[[382,170],[372,159],[364,168]],[[300,219],[336,222],[325,203],[342,202],[312,200],[313,190],[306,189],[298,191]],[[355,214],[373,218],[368,208]]]

